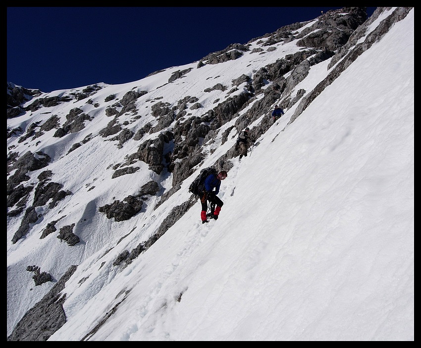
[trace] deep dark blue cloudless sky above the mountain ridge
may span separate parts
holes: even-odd
[[[7,7],[7,81],[43,92],[132,82],[337,8]]]

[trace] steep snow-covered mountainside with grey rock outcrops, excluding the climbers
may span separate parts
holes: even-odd
[[[121,85],[8,83],[8,340],[413,340],[414,9],[363,13]]]

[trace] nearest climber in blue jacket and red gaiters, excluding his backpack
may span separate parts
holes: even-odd
[[[218,219],[219,212],[224,203],[216,195],[219,193],[221,180],[224,180],[226,177],[227,173],[225,171],[221,171],[219,174],[209,174],[205,179],[204,189],[200,194],[200,202],[202,204],[202,212],[200,217],[202,219],[202,224],[209,222],[208,216],[206,216],[206,212],[208,210],[208,201],[211,203],[211,214],[209,215],[209,218],[215,220]],[[215,190],[213,191],[213,189]]]

